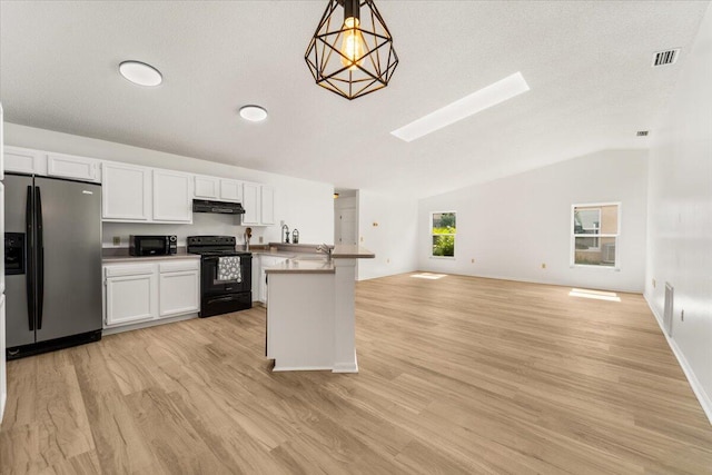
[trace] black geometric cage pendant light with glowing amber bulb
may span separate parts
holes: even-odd
[[[317,85],[349,100],[388,86],[398,66],[373,0],[329,0],[304,59]]]

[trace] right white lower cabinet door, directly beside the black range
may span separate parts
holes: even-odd
[[[159,264],[160,317],[190,314],[200,309],[200,265],[198,260]]]

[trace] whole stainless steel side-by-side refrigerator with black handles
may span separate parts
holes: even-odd
[[[6,175],[7,355],[101,338],[101,186]]]

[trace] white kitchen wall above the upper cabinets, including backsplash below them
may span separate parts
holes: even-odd
[[[87,137],[60,133],[32,127],[6,123],[6,145],[56,151],[61,154],[92,157],[105,160],[123,161],[170,170],[236,178],[258,181],[275,188],[275,219],[284,220],[290,229],[299,229],[301,243],[332,243],[334,240],[334,187],[329,184],[291,178],[284,175],[250,170],[224,164],[199,160],[197,158],[165,154],[122,144],[97,140]],[[105,245],[110,246],[112,236],[128,239],[130,234],[176,234],[179,244],[185,237],[197,234],[236,235],[241,239],[244,227],[234,225],[233,217],[194,215],[195,226],[190,225],[140,225],[105,224]],[[263,236],[265,243],[280,241],[279,226],[266,228],[253,227],[250,243],[258,244]],[[126,240],[125,244],[126,245]]]

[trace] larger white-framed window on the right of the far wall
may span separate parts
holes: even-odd
[[[573,205],[571,212],[571,264],[617,268],[621,204]]]

